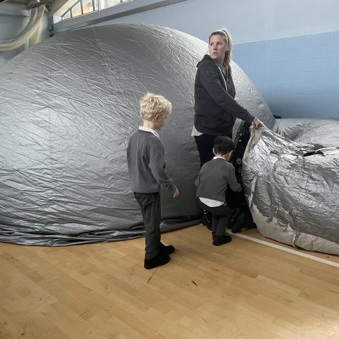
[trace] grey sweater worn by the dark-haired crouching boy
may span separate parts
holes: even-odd
[[[227,187],[239,191],[240,184],[235,177],[233,165],[221,158],[206,162],[196,179],[196,196],[199,198],[226,201]]]

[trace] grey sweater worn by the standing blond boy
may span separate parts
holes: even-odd
[[[177,189],[165,171],[165,149],[160,138],[137,130],[128,141],[127,164],[130,189],[136,193],[155,193],[160,185],[174,193]]]

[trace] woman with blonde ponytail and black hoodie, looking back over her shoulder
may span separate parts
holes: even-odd
[[[209,36],[209,55],[198,64],[194,83],[194,136],[200,165],[213,158],[216,135],[232,138],[235,118],[260,126],[260,121],[235,101],[235,87],[230,69],[232,38],[226,29]]]

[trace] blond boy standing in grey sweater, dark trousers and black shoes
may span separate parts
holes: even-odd
[[[140,100],[143,126],[130,137],[127,147],[130,188],[140,205],[145,226],[144,267],[152,269],[170,261],[174,246],[161,243],[160,186],[173,194],[179,191],[165,170],[165,149],[155,130],[160,130],[172,111],[163,96],[148,93]]]

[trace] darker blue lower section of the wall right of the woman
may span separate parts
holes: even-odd
[[[339,31],[235,45],[233,59],[272,113],[339,118]]]

